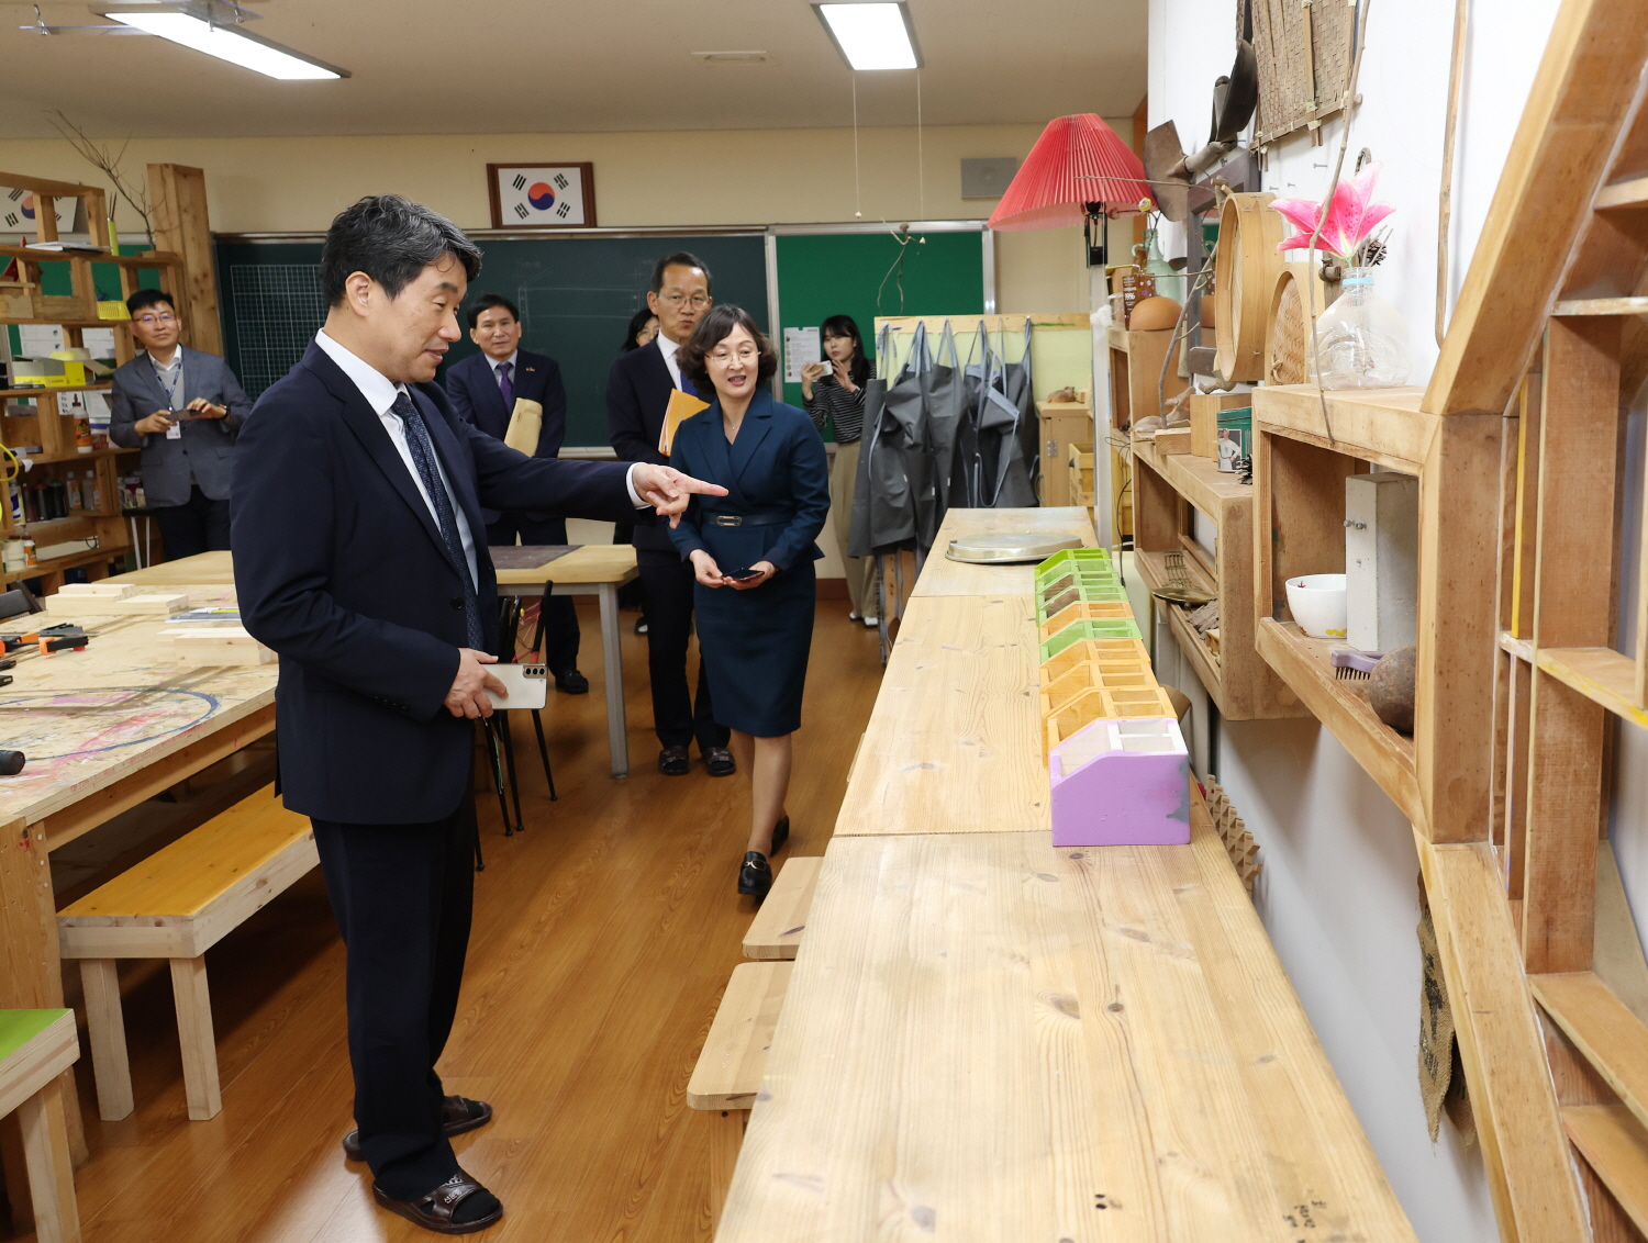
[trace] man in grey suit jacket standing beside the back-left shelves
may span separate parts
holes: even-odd
[[[166,556],[229,548],[229,461],[252,412],[229,364],[178,344],[178,313],[160,290],[125,300],[143,352],[114,374],[109,440],[143,449],[143,494]]]

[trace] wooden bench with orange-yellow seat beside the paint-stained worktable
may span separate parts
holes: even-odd
[[[117,958],[170,958],[190,1118],[216,1118],[218,1045],[204,953],[318,863],[305,817],[274,785],[58,912],[64,958],[81,960],[86,1019],[105,1121],[132,1113]]]

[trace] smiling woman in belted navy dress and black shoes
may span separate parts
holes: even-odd
[[[789,736],[801,728],[829,461],[808,413],[766,392],[778,356],[745,311],[710,310],[677,359],[700,393],[714,389],[715,402],[676,430],[669,464],[727,496],[694,497],[669,538],[697,578],[699,652],[715,723],[732,729],[738,770],[750,774],[738,892],[760,901],[773,886],[768,856],[789,836]]]

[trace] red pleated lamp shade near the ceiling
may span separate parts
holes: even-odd
[[[1083,204],[1137,211],[1154,199],[1144,165],[1091,112],[1050,120],[990,216],[992,229],[1061,229],[1086,219]]]

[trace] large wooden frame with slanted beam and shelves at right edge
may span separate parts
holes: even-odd
[[[1257,649],[1414,825],[1500,1231],[1519,1243],[1648,1233],[1648,966],[1628,914],[1627,966],[1595,952],[1599,901],[1623,909],[1599,851],[1607,718],[1648,728],[1648,556],[1636,599],[1615,573],[1623,418],[1648,379],[1645,66],[1636,0],[1564,0],[1424,392],[1254,393]],[[1419,477],[1411,741],[1280,599],[1289,575],[1341,565],[1343,479],[1369,463]]]

